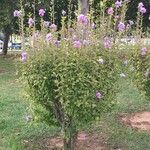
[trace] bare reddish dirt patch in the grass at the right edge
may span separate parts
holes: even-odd
[[[134,129],[150,131],[150,112],[138,112],[131,115],[121,114],[121,121]]]

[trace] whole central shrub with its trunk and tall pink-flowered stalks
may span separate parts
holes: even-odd
[[[32,18],[28,21],[34,45],[22,53],[21,81],[35,118],[61,127],[64,149],[73,150],[78,130],[99,121],[114,104],[118,52],[87,16],[79,15],[71,29],[63,17],[59,41],[55,24],[44,27],[44,14],[40,9],[38,34]]]

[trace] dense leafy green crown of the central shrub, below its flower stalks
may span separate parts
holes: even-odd
[[[36,118],[60,126],[67,142],[77,129],[111,109],[118,78],[114,51],[100,44],[75,44],[79,43],[43,42],[23,53],[21,67],[21,81]]]

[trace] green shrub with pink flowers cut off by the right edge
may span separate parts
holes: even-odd
[[[133,81],[150,100],[150,50],[149,47],[135,48],[131,56],[134,68]]]

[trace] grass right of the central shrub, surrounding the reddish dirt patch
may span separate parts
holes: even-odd
[[[120,92],[113,111],[102,118],[97,128],[108,135],[110,149],[150,150],[150,131],[137,131],[121,123],[119,115],[150,111],[150,102],[128,80],[120,80]]]

